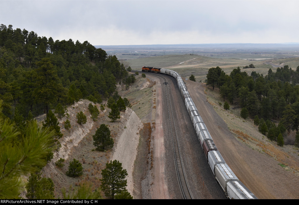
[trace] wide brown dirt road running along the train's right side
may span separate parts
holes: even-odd
[[[299,198],[299,179],[278,162],[240,143],[207,102],[205,84],[187,81],[199,114],[218,150],[237,177],[260,199]]]

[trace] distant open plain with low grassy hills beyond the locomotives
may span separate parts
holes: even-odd
[[[182,77],[195,75],[204,81],[208,69],[219,66],[226,74],[234,68],[254,64],[254,69],[244,69],[266,75],[269,68],[289,65],[299,66],[299,44],[176,44],[96,46],[108,55],[115,55],[125,66],[141,70],[143,66],[175,70]],[[270,64],[274,64],[272,66]]]

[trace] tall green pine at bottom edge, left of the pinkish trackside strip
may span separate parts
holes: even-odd
[[[117,160],[106,163],[106,168],[102,169],[101,188],[105,196],[114,199],[116,194],[126,190],[128,175],[127,170],[123,169],[121,163]]]

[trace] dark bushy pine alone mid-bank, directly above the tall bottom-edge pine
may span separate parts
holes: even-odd
[[[97,147],[96,150],[103,151],[106,149],[111,149],[114,145],[114,141],[111,138],[110,130],[107,125],[101,124],[94,135],[92,135],[94,140],[94,146]]]

